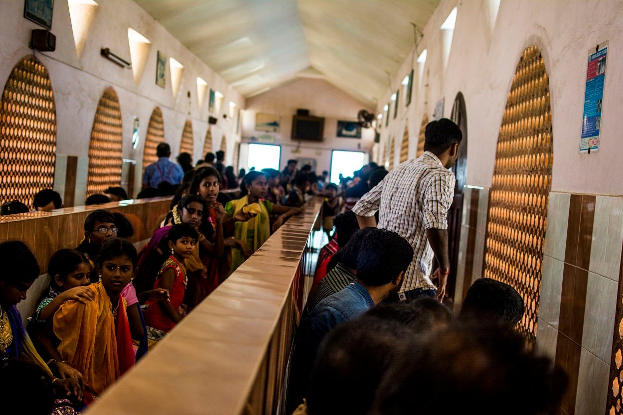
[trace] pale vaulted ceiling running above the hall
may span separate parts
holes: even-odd
[[[250,97],[325,79],[371,107],[439,0],[135,0]]]

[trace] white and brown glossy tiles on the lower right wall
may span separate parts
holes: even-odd
[[[488,189],[464,194],[456,309],[482,277],[486,237]],[[536,346],[569,374],[561,414],[621,413],[622,246],[623,197],[549,193]]]

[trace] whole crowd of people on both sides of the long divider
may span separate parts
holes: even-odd
[[[143,177],[143,192],[174,186],[161,227],[137,252],[126,217],[90,212],[77,247],[50,258],[49,289],[26,327],[16,305],[39,265],[23,242],[0,243],[0,398],[24,396],[14,387],[22,379],[38,398],[19,400],[27,413],[86,408],[322,196],[329,242],[295,332],[285,413],[432,415],[457,404],[485,415],[558,413],[567,376],[516,330],[525,305],[513,287],[478,279],[456,315],[443,303],[449,168],[462,135],[444,118],[425,137],[419,158],[389,172],[368,163],[340,183],[296,160],[242,177],[224,167],[222,152],[176,164],[162,143]],[[234,199],[221,193],[234,183]],[[62,206],[53,192],[44,196],[36,208]]]

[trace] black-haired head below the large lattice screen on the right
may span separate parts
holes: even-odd
[[[495,318],[515,326],[523,318],[523,313],[523,298],[511,285],[480,278],[467,290],[460,316]]]

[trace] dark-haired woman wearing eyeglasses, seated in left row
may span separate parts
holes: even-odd
[[[89,280],[91,282],[98,281],[93,262],[98,250],[104,241],[115,237],[117,237],[117,225],[115,225],[115,216],[111,212],[97,209],[88,214],[84,221],[84,238],[76,249],[85,254],[90,263]]]

